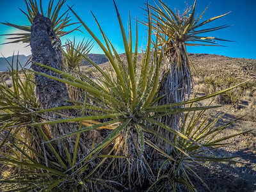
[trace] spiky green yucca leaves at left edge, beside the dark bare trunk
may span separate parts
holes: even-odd
[[[0,84],[0,106],[1,122],[7,121],[11,125],[29,124],[31,122],[30,109],[39,107],[35,97],[35,83],[33,82],[33,73],[26,71],[24,68],[19,70],[19,54],[17,62],[6,62],[10,66],[10,78],[12,87],[4,82]],[[17,120],[19,119],[19,120]]]

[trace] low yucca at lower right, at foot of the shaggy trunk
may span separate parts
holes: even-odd
[[[195,99],[196,94],[193,95]],[[198,106],[198,102],[190,103],[188,108]],[[211,104],[211,102],[209,102]],[[184,120],[180,126],[180,132],[191,138],[195,143],[184,140],[179,136],[175,136],[174,143],[177,147],[182,148],[189,156],[184,155],[179,150],[172,151],[172,158],[164,158],[161,162],[159,172],[157,173],[157,181],[150,186],[148,191],[183,191],[186,187],[189,191],[197,191],[198,185],[195,183],[195,178],[202,182],[205,189],[200,187],[202,191],[211,191],[200,177],[198,166],[205,162],[227,162],[235,163],[235,157],[221,157],[217,154],[222,147],[229,144],[229,139],[244,134],[248,131],[238,132],[221,136],[227,127],[241,118],[232,120],[225,124],[220,124],[219,120],[226,114],[225,112],[218,113],[211,119],[211,113],[205,114],[202,111],[189,111],[184,116]]]

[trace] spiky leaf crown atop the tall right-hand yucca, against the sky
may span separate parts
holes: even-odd
[[[155,17],[154,26],[159,26],[159,30],[162,34],[162,36],[159,36],[159,42],[163,42],[163,44],[166,44],[166,38],[168,38],[167,42],[169,44],[175,44],[177,42],[198,42],[199,44],[186,44],[195,46],[216,44],[215,40],[227,41],[213,36],[200,36],[200,34],[227,28],[228,25],[218,26],[216,28],[207,28],[200,30],[197,29],[209,22],[212,22],[213,20],[224,17],[228,13],[225,13],[218,17],[212,17],[211,19],[207,19],[204,22],[200,22],[208,6],[207,8],[205,8],[204,12],[202,12],[202,14],[197,17],[195,15],[196,1],[193,4],[192,10],[191,8],[187,8],[182,14],[180,14],[180,12],[177,10],[176,12],[173,12],[170,8],[168,8],[168,6],[166,6],[166,4],[161,1],[158,2],[161,4],[161,7],[156,4],[156,6],[150,6],[150,8],[154,11],[154,14],[152,13],[152,15],[154,15]],[[156,29],[157,28],[155,27],[154,30]]]

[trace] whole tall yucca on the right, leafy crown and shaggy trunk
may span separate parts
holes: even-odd
[[[216,46],[214,40],[223,39],[212,36],[201,36],[201,34],[227,28],[228,26],[224,25],[199,30],[198,28],[228,13],[200,22],[207,8],[197,17],[195,15],[196,1],[192,10],[191,8],[187,8],[182,14],[177,10],[173,12],[161,1],[158,1],[158,3],[160,5],[156,3],[156,6],[150,6],[150,9],[152,10],[152,18],[154,20],[152,28],[155,33],[156,31],[159,33],[159,46],[164,53],[161,89],[159,92],[159,96],[163,97],[157,102],[157,104],[162,105],[182,102],[186,96],[189,97],[193,81],[191,77],[191,62],[186,51],[186,45]],[[179,130],[180,114],[164,116],[160,121],[175,130]],[[161,127],[156,127],[156,130],[162,132],[169,140],[173,140],[173,135],[170,132],[164,131]],[[156,141],[157,138],[152,138],[152,140]],[[168,154],[172,151],[172,147],[167,145],[167,143],[159,142],[159,147],[168,152]]]

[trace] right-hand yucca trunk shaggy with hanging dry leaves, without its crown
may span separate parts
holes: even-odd
[[[164,95],[157,105],[172,104],[175,102],[182,102],[186,97],[189,97],[191,92],[191,74],[189,70],[189,58],[186,52],[186,45],[169,45],[164,54],[164,64],[162,66],[161,72],[161,89],[159,91],[159,96]],[[177,108],[181,108],[179,106]],[[163,116],[159,118],[159,122],[168,127],[174,129],[175,131],[180,130],[180,119],[182,117],[181,113],[176,113],[174,115]],[[162,127],[154,127],[154,129],[162,134],[166,139],[173,142],[174,135],[163,129]],[[159,140],[156,136],[153,136],[153,143],[157,143],[157,147],[161,148],[167,154],[172,154],[172,146],[166,141]],[[155,151],[152,156],[154,159],[159,159],[157,152]],[[155,161],[154,166],[156,170],[161,165],[161,161]]]

